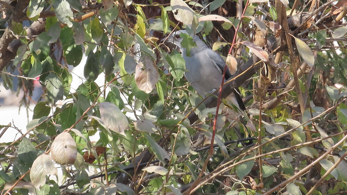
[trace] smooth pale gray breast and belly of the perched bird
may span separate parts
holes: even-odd
[[[214,51],[211,50],[211,52]],[[192,83],[194,90],[204,96],[220,86],[222,74],[214,66],[209,56],[206,55],[206,50],[192,48],[191,56],[183,56],[187,69],[185,77],[189,83]]]

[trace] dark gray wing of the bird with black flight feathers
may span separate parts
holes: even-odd
[[[213,61],[214,66],[219,70],[219,72],[221,74],[223,74],[223,70],[225,67],[225,61],[223,60],[223,58],[215,51],[211,50],[206,52],[208,57],[211,59],[211,61]],[[212,60],[214,59],[214,60]],[[227,68],[226,73],[225,73],[225,79],[228,80],[231,77],[231,74]],[[241,92],[238,88],[234,88],[234,94],[235,94],[235,98],[236,101],[238,103],[238,106],[241,110],[246,110],[246,106],[242,101],[242,96],[241,96]]]

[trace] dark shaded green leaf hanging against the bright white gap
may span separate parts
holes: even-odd
[[[99,76],[99,63],[93,51],[89,52],[86,65],[84,66],[84,78],[88,82],[94,81]]]

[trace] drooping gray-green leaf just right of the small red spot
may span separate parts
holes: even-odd
[[[54,105],[58,100],[64,97],[63,84],[59,77],[53,73],[49,74],[45,80],[46,96],[45,102],[48,105]]]

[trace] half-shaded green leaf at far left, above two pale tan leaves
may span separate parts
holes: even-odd
[[[23,137],[22,141],[19,142],[17,153],[19,161],[26,167],[31,167],[37,157],[35,146],[26,137]]]

